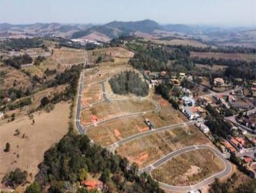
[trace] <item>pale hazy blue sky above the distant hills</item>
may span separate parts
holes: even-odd
[[[0,22],[256,25],[256,0],[0,0]]]

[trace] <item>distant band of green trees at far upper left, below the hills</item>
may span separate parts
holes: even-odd
[[[13,38],[1,41],[0,49],[19,51],[20,49],[40,47],[43,41],[42,38]]]

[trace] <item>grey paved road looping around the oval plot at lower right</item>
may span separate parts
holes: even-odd
[[[168,185],[166,183],[162,183],[161,181],[159,181],[159,185],[161,188],[170,190],[170,191],[175,191],[175,192],[188,192],[190,190],[201,189],[205,185],[209,185],[210,183],[212,183],[215,178],[223,178],[225,176],[228,176],[231,173],[232,166],[231,166],[230,162],[228,160],[226,160],[225,155],[220,153],[220,151],[216,150],[215,148],[212,148],[211,146],[207,146],[207,145],[188,146],[186,148],[182,148],[180,150],[173,151],[172,153],[169,153],[168,155],[164,156],[163,158],[157,160],[153,164],[150,164],[148,167],[140,169],[140,173],[146,172],[146,173],[152,175],[151,171],[155,167],[161,166],[161,164],[164,164],[168,160],[170,160],[173,157],[176,157],[182,153],[186,153],[188,151],[193,151],[193,150],[198,150],[198,149],[208,149],[208,150],[213,151],[216,155],[218,155],[218,157],[221,158],[221,160],[225,164],[225,169],[223,171],[221,171],[220,173],[209,176],[209,178],[206,178],[205,180],[200,181],[199,183],[196,183],[195,185],[190,185],[190,186],[182,186],[182,187],[181,186],[173,186],[173,185]]]

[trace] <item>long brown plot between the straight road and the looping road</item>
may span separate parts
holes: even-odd
[[[186,146],[209,143],[208,139],[194,125],[173,128],[150,134],[129,143],[122,144],[116,151],[136,162],[139,167],[152,164],[159,158]]]

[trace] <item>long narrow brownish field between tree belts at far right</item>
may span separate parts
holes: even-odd
[[[221,53],[221,52],[190,52],[191,57],[198,58],[215,58],[215,59],[234,59],[234,60],[246,60],[256,61],[256,54],[244,54],[244,53]]]

